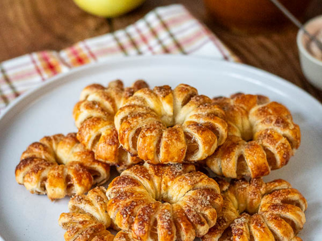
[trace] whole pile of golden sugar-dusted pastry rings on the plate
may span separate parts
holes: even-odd
[[[242,93],[210,99],[186,84],[150,89],[139,80],[125,88],[117,80],[87,86],[73,117],[77,134],[32,144],[16,169],[31,192],[73,195],[59,218],[66,241],[300,240],[305,198],[284,180],[261,179],[300,145],[284,105]],[[198,171],[204,164],[231,181]],[[109,165],[120,176],[85,195],[108,179]],[[109,227],[120,231],[114,236]]]

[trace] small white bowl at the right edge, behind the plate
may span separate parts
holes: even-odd
[[[317,26],[322,29],[322,15],[308,21],[304,28],[313,33]],[[314,30],[315,29],[315,30]],[[299,49],[300,63],[305,77],[316,87],[322,89],[322,61],[314,58],[304,47],[304,32],[300,29],[297,33],[297,46]]]

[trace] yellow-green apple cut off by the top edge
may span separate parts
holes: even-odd
[[[128,13],[145,0],[73,0],[86,12],[100,17],[113,18]]]

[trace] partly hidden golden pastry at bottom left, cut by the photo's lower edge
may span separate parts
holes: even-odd
[[[104,187],[96,187],[87,195],[70,198],[69,213],[60,214],[58,223],[66,230],[66,241],[112,241],[114,235],[106,228],[111,224],[107,214],[107,197]]]

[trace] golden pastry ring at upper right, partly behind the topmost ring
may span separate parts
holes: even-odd
[[[298,149],[300,129],[284,105],[242,93],[213,102],[225,111],[228,123],[226,142],[206,159],[217,175],[262,177],[285,166]]]

